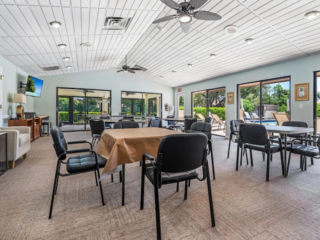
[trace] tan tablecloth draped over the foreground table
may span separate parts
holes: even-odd
[[[148,152],[156,157],[161,138],[170,134],[181,134],[160,127],[106,129],[102,132],[98,154],[107,158],[100,179],[121,170],[121,164],[140,161]],[[183,133],[182,133],[183,134]]]

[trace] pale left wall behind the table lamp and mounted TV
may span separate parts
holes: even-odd
[[[20,81],[26,82],[28,73],[17,67],[12,62],[0,55],[0,65],[2,66],[2,114],[3,118],[15,116],[16,103],[12,102],[13,94],[20,88]],[[33,97],[26,97],[26,104],[23,104],[25,111],[33,111]],[[5,120],[3,121],[5,125]]]

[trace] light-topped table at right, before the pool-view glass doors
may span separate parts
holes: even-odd
[[[286,149],[287,149],[287,134],[295,134],[295,133],[304,133],[304,132],[313,132],[314,129],[312,127],[299,127],[299,126],[282,126],[282,125],[264,125],[267,132],[270,133],[279,133],[283,134],[283,162],[284,162],[284,177],[287,175],[287,161],[286,161]]]

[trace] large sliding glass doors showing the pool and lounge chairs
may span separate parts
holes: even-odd
[[[244,83],[238,87],[238,108],[243,107],[250,120],[273,119],[272,112],[290,113],[289,77]]]

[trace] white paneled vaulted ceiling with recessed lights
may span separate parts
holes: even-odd
[[[319,0],[199,1],[205,3],[196,10],[222,18],[193,18],[184,33],[176,19],[152,24],[176,14],[160,0],[0,0],[0,54],[34,76],[117,71],[127,55],[127,65],[146,70],[117,74],[175,87],[320,52],[320,15],[304,18],[320,11]],[[106,17],[131,20],[126,29],[102,29]],[[61,26],[54,28],[52,21]],[[226,33],[228,25],[238,31]],[[246,44],[247,38],[253,43]],[[80,45],[86,42],[92,45]],[[59,69],[41,68],[52,66]]]

